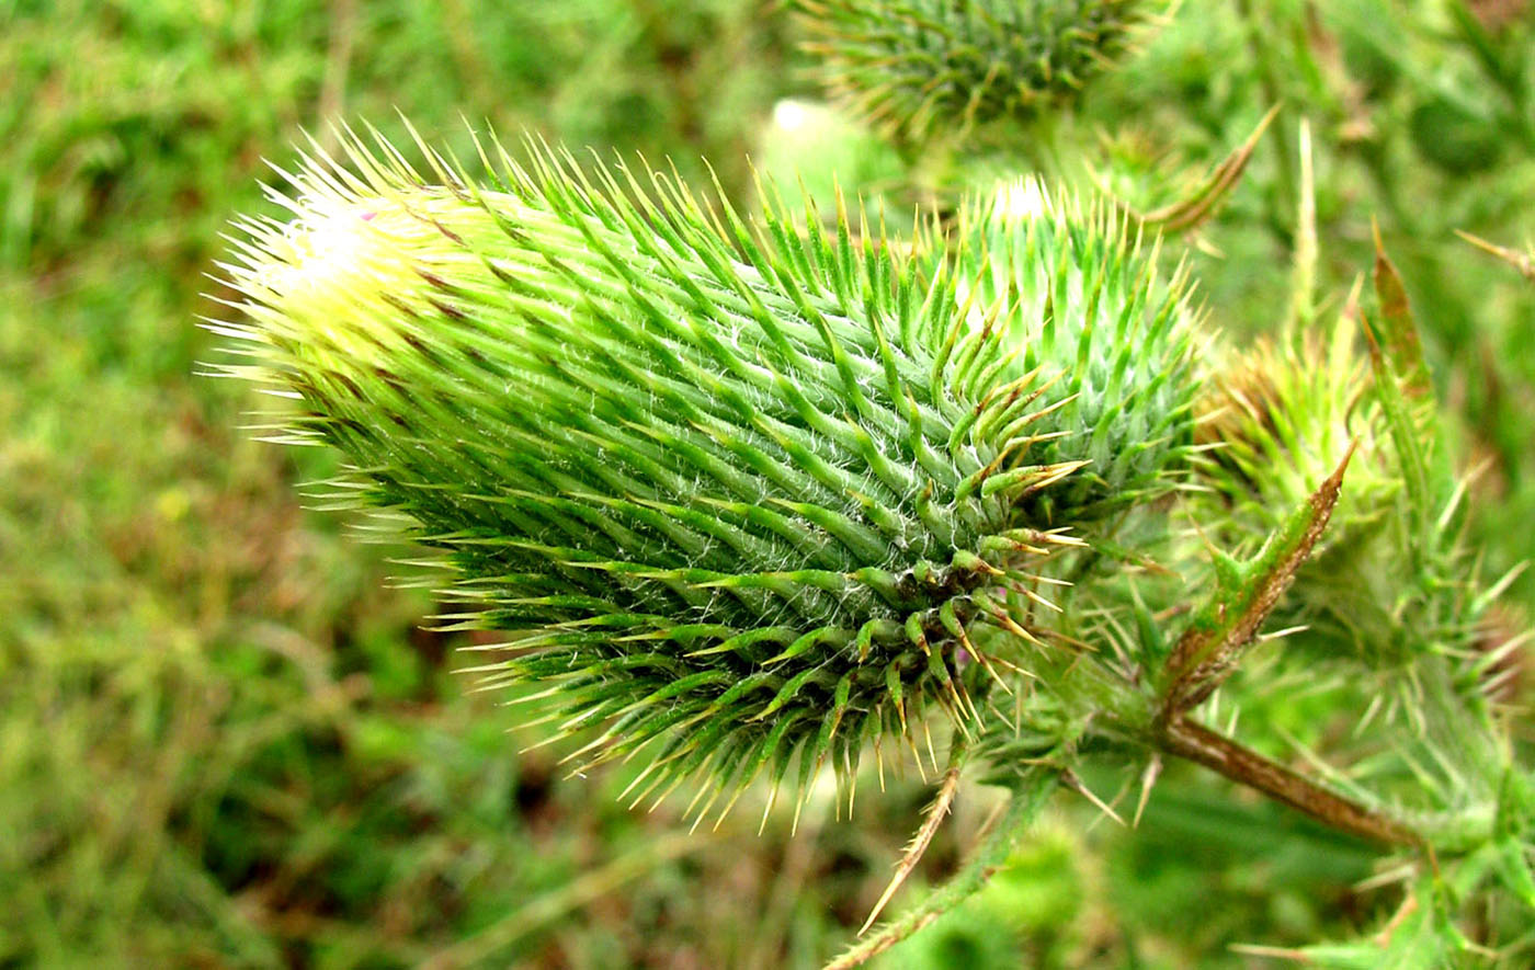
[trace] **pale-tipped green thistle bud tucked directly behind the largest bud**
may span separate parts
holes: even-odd
[[[1019,373],[1050,381],[1061,436],[1036,454],[1088,462],[1028,499],[1039,522],[1079,522],[1165,493],[1194,439],[1197,315],[1180,266],[1157,275],[1156,246],[1107,206],[1051,200],[1035,180],[964,207],[956,233],[961,298],[1007,345]]]

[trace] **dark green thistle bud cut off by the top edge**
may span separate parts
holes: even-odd
[[[832,95],[921,141],[1076,97],[1145,25],[1147,0],[792,0]]]

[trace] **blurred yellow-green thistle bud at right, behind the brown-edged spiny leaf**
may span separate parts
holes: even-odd
[[[1274,625],[1308,629],[1289,646],[1292,655],[1317,663],[1349,657],[1386,671],[1378,686],[1385,694],[1405,689],[1409,681],[1391,674],[1418,657],[1467,654],[1483,635],[1489,600],[1466,579],[1475,568],[1452,528],[1460,497],[1432,508],[1426,533],[1408,525],[1414,513],[1400,439],[1380,405],[1383,378],[1371,373],[1358,330],[1351,313],[1340,313],[1331,327],[1260,341],[1233,358],[1199,405],[1199,437],[1210,450],[1199,460],[1194,514],[1225,522],[1210,534],[1239,548],[1274,528],[1329,465],[1352,454],[1328,531],[1296,574]],[[1418,417],[1432,419],[1423,402],[1415,407]],[[1405,563],[1415,557],[1421,576],[1435,576],[1420,588],[1403,580]]]

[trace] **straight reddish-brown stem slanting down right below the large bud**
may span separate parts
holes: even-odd
[[[1423,844],[1423,836],[1401,823],[1329,792],[1305,775],[1183,717],[1160,726],[1159,743],[1171,755],[1203,764],[1332,829],[1388,846]]]

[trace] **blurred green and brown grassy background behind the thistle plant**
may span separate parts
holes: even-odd
[[[1079,124],[1154,130],[1176,103],[1185,161],[1219,158],[1265,107],[1240,41],[1230,15],[1185,9]],[[867,780],[852,821],[818,793],[792,838],[784,809],[757,835],[752,797],[689,836],[683,806],[616,800],[625,767],[566,778],[559,746],[519,754],[540,740],[530,715],[467,694],[470,642],[422,629],[431,594],[388,583],[408,549],[304,508],[296,487],[336,457],[250,440],[249,390],[195,376],[213,338],[193,321],[229,296],[204,276],[220,233],[261,207],[262,160],[292,160],[305,129],[324,141],[322,118],[401,137],[405,115],[460,149],[467,118],[695,180],[708,157],[741,198],[748,155],[810,166],[812,192],[834,169],[892,184],[898,160],[837,118],[784,132],[774,106],[815,98],[801,68],[769,0],[0,0],[0,965],[797,967],[841,949],[921,780]],[[1282,81],[1323,123],[1348,107]],[[1464,114],[1448,103],[1391,101],[1408,147],[1328,157],[1319,210],[1329,281],[1368,266],[1383,218],[1466,451],[1490,457],[1495,568],[1532,553],[1535,313],[1506,267],[1435,233],[1520,226],[1521,192],[1535,229],[1535,149],[1478,146],[1467,123],[1421,175],[1371,169],[1432,112]],[[1434,164],[1464,175],[1489,152],[1515,161],[1443,192]],[[1222,255],[1197,256],[1234,330],[1283,305],[1276,164],[1256,160],[1211,229]],[[913,883],[952,872],[990,807],[967,792]],[[1371,872],[1365,849],[1176,772],[1134,838],[1059,801],[884,965],[1256,965],[1230,945],[1388,915],[1398,898],[1357,887]]]

